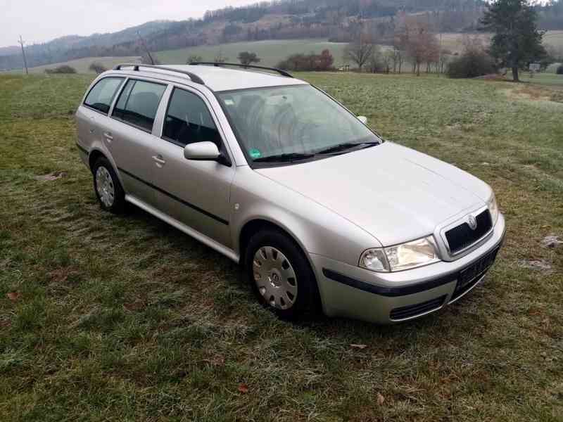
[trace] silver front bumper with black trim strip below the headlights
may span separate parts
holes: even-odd
[[[310,254],[324,313],[393,324],[435,312],[482,281],[502,246],[505,229],[499,215],[489,238],[468,255],[393,273],[375,273]]]

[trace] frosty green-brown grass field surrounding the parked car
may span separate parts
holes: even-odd
[[[0,75],[0,421],[563,421],[560,91],[301,77],[495,188],[486,283],[399,326],[279,321],[227,258],[101,212],[72,119],[91,77]]]

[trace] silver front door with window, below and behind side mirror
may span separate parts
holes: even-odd
[[[158,142],[156,168],[160,210],[231,248],[229,193],[235,167],[216,161],[184,158],[188,143],[214,142],[229,152],[210,106],[198,91],[174,87],[170,93],[163,132]]]

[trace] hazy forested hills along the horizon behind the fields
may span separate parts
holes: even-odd
[[[262,39],[345,42],[358,31],[360,21],[363,31],[386,44],[393,38],[398,16],[414,15],[443,32],[472,32],[478,29],[485,6],[482,0],[262,1],[208,11],[201,19],[155,21],[111,34],[71,35],[34,44],[27,46],[27,60],[37,66],[91,56],[140,56],[144,49],[137,32],[152,51]],[[540,27],[563,30],[563,0],[551,0],[538,11]],[[0,49],[0,70],[21,66],[19,51]]]

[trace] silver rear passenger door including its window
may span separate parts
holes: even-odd
[[[118,167],[125,192],[156,205],[153,186],[156,143],[153,134],[158,106],[166,84],[127,79],[111,114],[111,122],[102,136]]]

